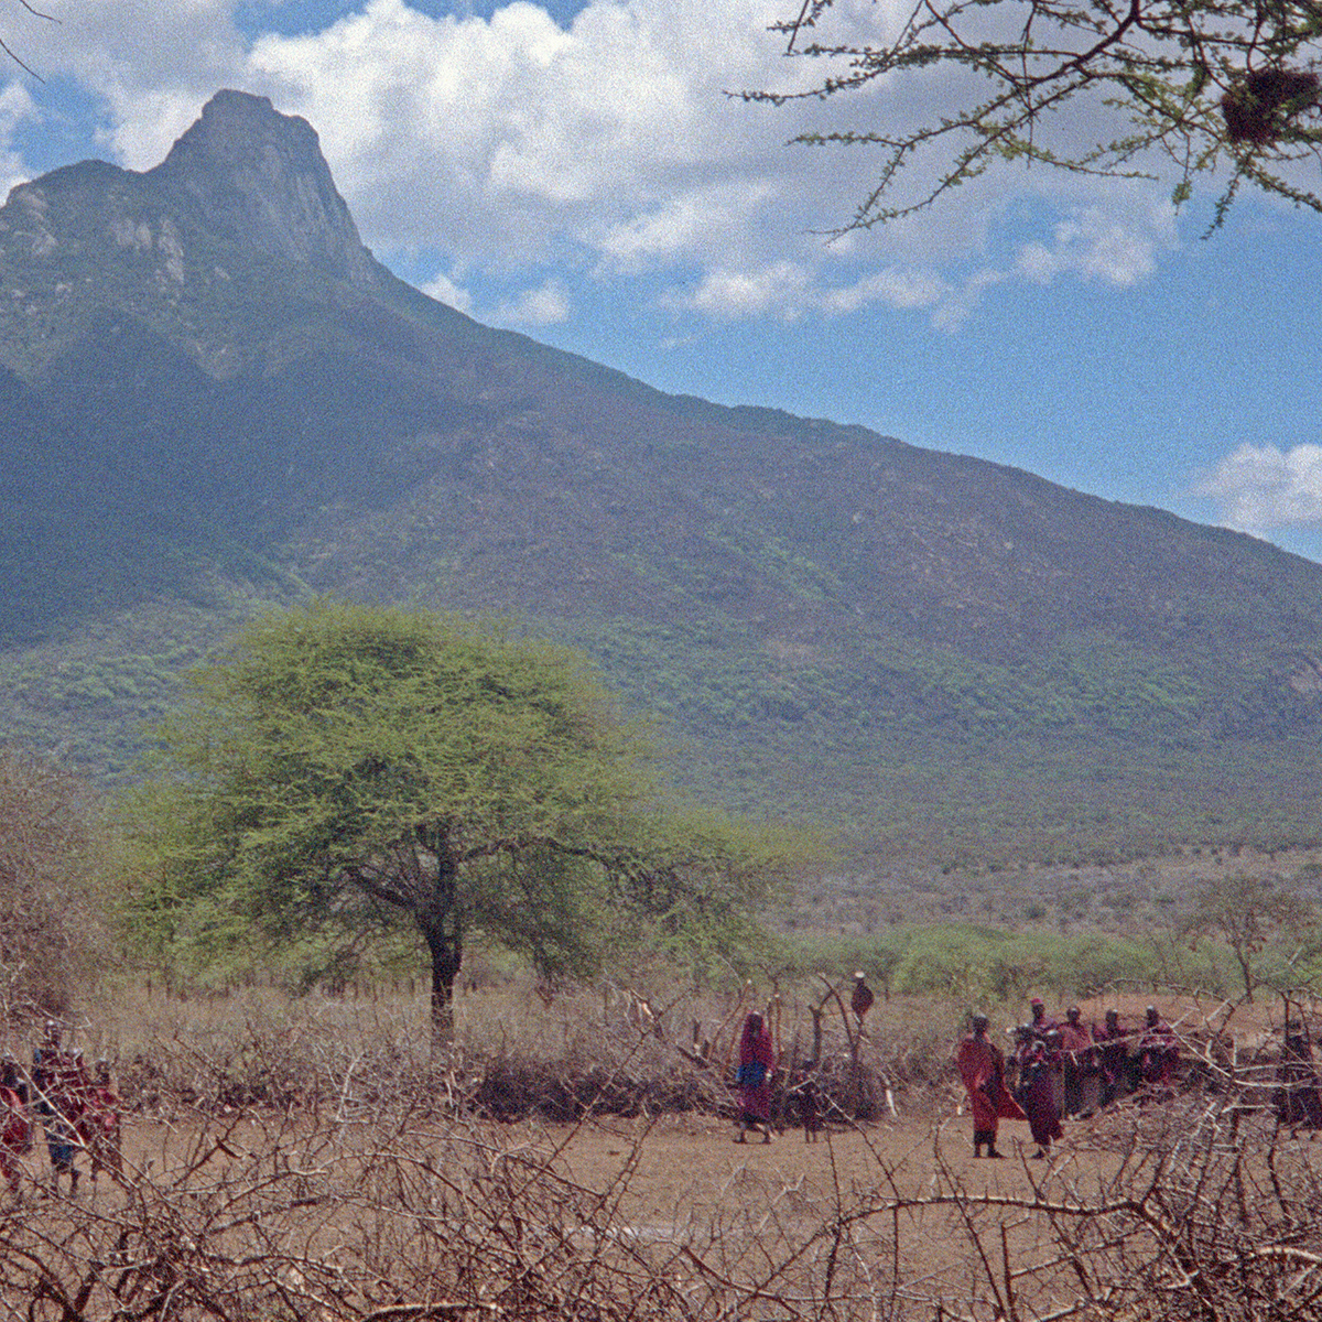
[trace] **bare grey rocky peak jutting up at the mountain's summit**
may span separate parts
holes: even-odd
[[[266,97],[218,91],[149,177],[193,198],[213,225],[260,251],[357,286],[375,279],[316,130],[282,115]]]

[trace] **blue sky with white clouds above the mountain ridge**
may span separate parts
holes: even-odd
[[[791,5],[789,8],[797,8]],[[839,0],[865,30],[892,0]],[[845,241],[866,151],[917,93],[751,106],[805,70],[777,0],[61,0],[3,11],[8,184],[160,160],[219,87],[321,136],[364,241],[479,320],[664,390],[858,422],[1322,561],[1322,217],[1215,181],[1005,168]],[[1099,134],[1062,122],[1066,135]],[[1317,180],[1305,178],[1317,188]]]

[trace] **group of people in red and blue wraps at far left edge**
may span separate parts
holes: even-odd
[[[70,1195],[78,1192],[79,1151],[89,1154],[93,1181],[102,1170],[118,1175],[119,1107],[110,1063],[98,1060],[89,1072],[82,1052],[66,1048],[59,1025],[48,1019],[29,1071],[9,1052],[0,1058],[0,1178],[17,1192],[33,1120],[46,1140],[53,1192],[59,1192],[61,1177],[69,1178]]]

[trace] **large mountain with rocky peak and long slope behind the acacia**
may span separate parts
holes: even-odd
[[[243,613],[330,591],[517,612],[702,792],[870,850],[1322,834],[1322,566],[483,327],[264,98],[12,190],[0,465],[0,711],[98,775]]]

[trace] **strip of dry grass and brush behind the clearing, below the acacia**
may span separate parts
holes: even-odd
[[[131,1107],[165,1116],[354,1110],[424,1093],[440,1110],[497,1120],[719,1113],[731,1105],[735,1036],[752,1003],[751,992],[669,1003],[617,988],[543,997],[520,982],[461,997],[455,1046],[436,1058],[420,992],[291,999],[254,988],[180,999],[144,984],[74,1019],[69,1044],[107,1058]],[[887,1088],[907,1089],[912,1105],[944,1089],[949,1006],[879,1002],[857,1071],[834,1015],[822,1017],[818,1077],[838,1114],[876,1113]],[[787,995],[773,1022],[788,1072],[812,1051],[812,1002]],[[11,1018],[4,1047],[26,1059],[34,1027]]]

